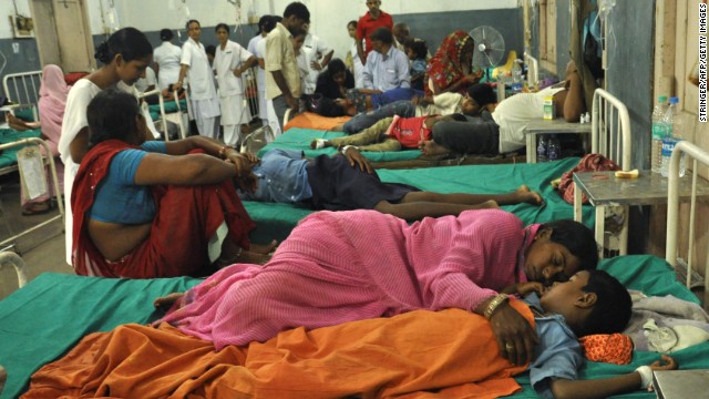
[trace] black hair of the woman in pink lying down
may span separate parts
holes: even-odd
[[[572,219],[548,222],[540,231],[551,228],[549,241],[563,245],[580,262],[582,270],[595,270],[598,265],[598,245],[590,228]]]

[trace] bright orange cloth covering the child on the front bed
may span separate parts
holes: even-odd
[[[124,325],[42,367],[23,398],[494,398],[520,390],[511,376],[524,369],[497,355],[483,317],[461,309],[296,328],[219,352],[165,324]]]

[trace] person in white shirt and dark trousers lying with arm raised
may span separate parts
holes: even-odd
[[[471,90],[493,93],[487,84]],[[530,121],[544,117],[544,98],[553,96],[556,114],[567,122],[578,122],[585,112],[584,90],[573,62],[566,69],[561,86],[546,88],[536,93],[520,93],[500,104],[489,104],[481,117],[471,122],[444,122],[433,129],[431,140],[420,143],[428,155],[455,152],[461,154],[503,154],[524,147],[524,131]]]

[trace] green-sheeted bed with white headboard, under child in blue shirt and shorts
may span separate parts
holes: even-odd
[[[628,112],[625,105],[615,96],[605,91],[597,91],[598,106],[594,112],[592,127],[592,147],[595,153],[606,155],[616,161],[623,167],[629,167],[631,154],[631,134]],[[610,101],[602,101],[610,100]],[[273,147],[302,150],[308,157],[320,154],[333,154],[335,149],[310,150],[312,137],[326,139],[333,136],[336,132],[316,132],[291,129],[280,135],[259,151],[263,155]],[[420,152],[363,152],[376,165],[391,162],[411,162]],[[487,165],[456,165],[441,167],[421,167],[407,170],[378,168],[383,182],[405,183],[424,191],[441,193],[501,193],[515,190],[526,184],[531,190],[537,191],[546,202],[546,206],[534,208],[531,205],[515,205],[505,207],[517,214],[525,223],[547,222],[558,218],[576,218],[583,221],[589,227],[598,223],[594,221],[594,209],[590,206],[579,207],[579,213],[574,213],[574,207],[552,188],[551,182],[556,180],[576,166],[577,157],[568,157],[561,161],[537,164],[487,164]],[[455,164],[454,164],[455,165]],[[273,238],[282,239],[296,226],[298,221],[312,211],[288,204],[269,204],[258,202],[244,202],[249,215],[254,218],[257,229],[253,233],[255,242],[268,243]],[[596,213],[598,216],[598,213]],[[626,208],[627,215],[627,208]],[[600,217],[600,216],[598,216]],[[627,217],[626,217],[627,221]],[[625,231],[627,232],[627,225]],[[627,233],[626,233],[627,234]]]

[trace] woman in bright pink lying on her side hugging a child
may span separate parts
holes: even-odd
[[[218,272],[162,321],[220,350],[297,326],[461,308],[485,315],[501,355],[522,365],[532,360],[537,337],[499,293],[515,283],[567,280],[597,262],[592,231],[567,219],[524,227],[514,214],[480,209],[410,225],[372,211],[318,212],[265,267]]]

